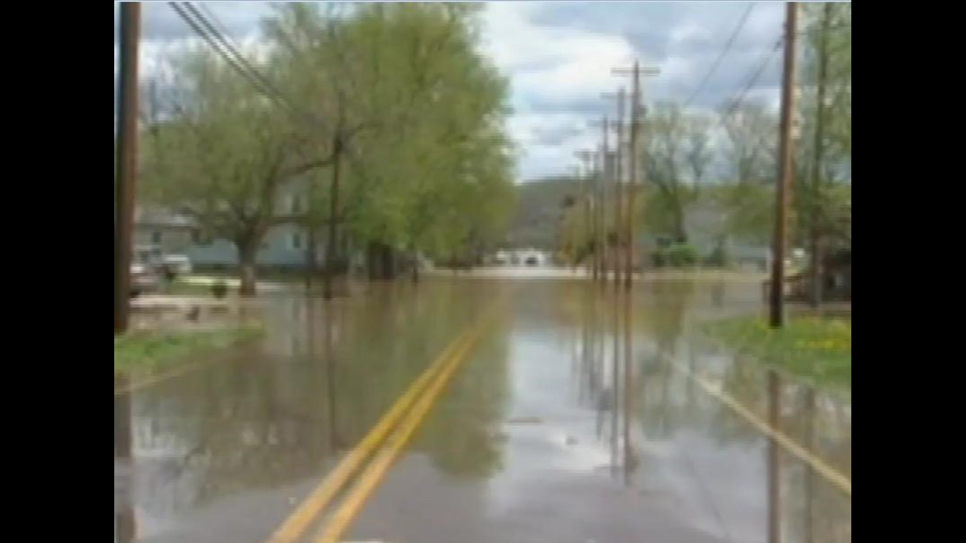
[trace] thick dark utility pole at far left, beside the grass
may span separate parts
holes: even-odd
[[[114,333],[128,330],[133,250],[134,178],[137,175],[137,46],[141,3],[121,4],[117,179],[114,182]]]

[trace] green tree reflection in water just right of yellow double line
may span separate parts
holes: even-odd
[[[487,477],[501,465],[508,334],[501,323],[484,335],[423,423],[413,446],[430,454],[442,472]]]

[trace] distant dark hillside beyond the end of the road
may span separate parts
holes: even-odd
[[[561,204],[566,196],[577,198],[580,184],[569,178],[531,181],[517,186],[517,211],[507,242],[511,246],[555,249]]]

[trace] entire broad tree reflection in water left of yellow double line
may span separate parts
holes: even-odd
[[[472,315],[452,300],[392,300],[359,300],[330,315],[324,312],[331,305],[304,312],[308,322],[293,333],[307,335],[301,342],[306,352],[296,357],[213,364],[177,386],[139,392],[140,448],[175,457],[168,469],[156,471],[152,494],[176,495],[169,498],[175,506],[190,507],[322,472]],[[339,333],[327,334],[327,325]],[[334,386],[328,386],[331,377]]]

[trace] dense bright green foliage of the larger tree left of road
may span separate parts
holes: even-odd
[[[506,83],[476,53],[476,10],[336,10],[285,5],[267,28],[277,62],[290,67],[290,94],[352,134],[340,199],[347,232],[434,256],[497,240],[512,210],[514,157]],[[327,214],[326,204],[312,209]]]

